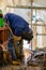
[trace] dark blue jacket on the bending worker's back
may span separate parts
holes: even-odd
[[[28,23],[16,14],[6,13],[4,19],[10,24],[15,36],[20,36],[22,31],[27,31],[29,28]]]

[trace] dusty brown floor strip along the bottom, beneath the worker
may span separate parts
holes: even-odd
[[[24,66],[5,66],[0,68],[0,70],[43,70],[40,67],[24,67]]]

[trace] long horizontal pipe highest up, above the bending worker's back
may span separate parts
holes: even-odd
[[[34,9],[34,10],[46,10],[46,6],[27,6],[27,5],[6,5],[6,8],[14,9]]]

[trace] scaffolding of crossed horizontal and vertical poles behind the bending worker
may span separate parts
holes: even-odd
[[[42,10],[42,11],[46,10],[46,6],[33,6],[33,0],[31,0],[31,5],[19,5],[19,4],[15,5],[14,0],[12,0],[12,1],[13,1],[13,5],[6,5],[6,8],[11,8],[11,9],[29,9],[29,10],[31,10],[31,24],[30,24],[31,28],[35,27],[35,31],[36,31],[37,26],[42,26],[42,27],[44,26],[45,29],[46,29],[46,25],[45,24],[36,24],[37,23],[36,19],[35,19],[35,24],[32,24],[32,16],[33,16],[32,12],[33,12],[33,10],[35,11],[35,16],[36,16],[36,11],[37,10]],[[41,34],[37,33],[36,36],[45,36],[45,33],[41,33]],[[35,39],[35,45],[34,46],[36,46],[36,39]]]

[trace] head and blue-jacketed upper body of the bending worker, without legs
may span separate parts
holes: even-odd
[[[21,16],[13,13],[6,13],[4,15],[4,20],[11,27],[14,36],[21,37],[21,39],[28,41],[32,40],[33,31],[29,28],[28,23]],[[20,48],[20,53],[21,52],[22,47]],[[20,56],[18,57],[21,58]]]

